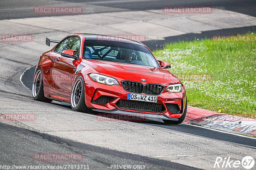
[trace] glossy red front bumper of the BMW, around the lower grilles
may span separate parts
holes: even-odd
[[[131,110],[118,107],[118,102],[123,99],[127,100],[127,92],[120,85],[106,85],[93,81],[89,75],[84,76],[84,87],[85,87],[85,104],[88,108],[91,108],[95,111],[106,112],[106,113],[114,113],[114,114],[124,114],[124,115],[132,115],[139,116],[139,114],[143,114],[144,117],[150,118],[158,118],[158,119],[172,119],[177,120],[177,118],[181,117],[184,112],[185,103],[186,103],[186,91],[183,87],[181,92],[178,93],[170,93],[166,91],[166,87],[164,91],[157,95],[157,103],[162,104],[162,110],[160,112],[152,112],[152,111],[143,111],[143,110]],[[144,94],[144,93],[142,93]],[[100,96],[110,96],[112,99],[106,104],[97,104],[95,103],[96,99]],[[169,108],[167,108],[168,104],[177,104],[180,113],[172,113]]]

